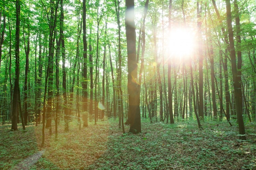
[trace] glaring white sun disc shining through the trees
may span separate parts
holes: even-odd
[[[168,37],[169,56],[181,61],[189,59],[195,51],[195,31],[186,28],[173,28]]]

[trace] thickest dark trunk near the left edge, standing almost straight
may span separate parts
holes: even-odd
[[[11,130],[18,130],[18,113],[19,113],[19,80],[20,80],[20,0],[16,0],[16,35],[15,35],[15,82],[13,88],[13,105]]]

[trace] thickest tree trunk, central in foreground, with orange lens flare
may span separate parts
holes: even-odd
[[[128,61],[128,115],[130,116],[131,133],[141,132],[140,119],[140,91],[137,84],[137,62],[136,62],[136,33],[135,33],[135,13],[134,0],[126,0],[126,41],[127,41],[127,61]]]

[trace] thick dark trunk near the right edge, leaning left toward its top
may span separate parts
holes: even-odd
[[[236,4],[236,1],[235,1]],[[233,77],[233,86],[234,86],[234,95],[235,95],[235,104],[236,104],[236,116],[238,119],[238,126],[239,126],[239,139],[246,140],[245,137],[245,125],[243,121],[243,100],[242,100],[242,85],[241,85],[241,65],[242,65],[242,58],[240,52],[238,52],[238,63],[236,65],[236,51],[235,51],[235,44],[234,44],[234,33],[232,28],[232,18],[231,18],[231,4],[230,0],[226,0],[226,8],[227,8],[227,29],[229,34],[229,47],[230,47],[230,57],[231,57],[231,70],[232,70],[232,77]],[[239,23],[239,16],[238,16],[238,9],[236,9],[236,26],[240,25]],[[239,27],[237,33],[240,33]],[[239,40],[238,40],[239,43]],[[240,51],[238,49],[238,51]]]

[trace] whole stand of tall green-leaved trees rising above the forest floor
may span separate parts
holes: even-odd
[[[256,121],[252,15],[252,2],[229,0],[3,0],[2,124],[16,130],[34,121],[50,134],[54,124],[57,139],[62,120],[67,131],[74,119],[86,127],[93,117],[94,124],[115,117],[123,132],[126,120],[137,133],[141,116],[172,124],[197,119],[199,128],[214,117],[237,119],[245,139],[243,122]],[[170,40],[183,27],[194,40],[185,55],[190,35]]]

